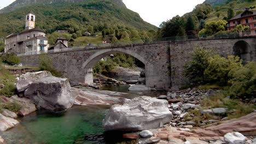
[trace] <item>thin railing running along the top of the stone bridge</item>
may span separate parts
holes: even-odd
[[[92,50],[92,49],[104,49],[112,47],[121,47],[121,46],[133,46],[133,45],[145,45],[145,44],[154,44],[154,43],[165,43],[165,42],[174,42],[174,41],[191,41],[191,40],[209,40],[209,39],[234,39],[234,38],[246,38],[246,37],[255,37],[256,33],[228,33],[228,34],[214,34],[214,35],[186,35],[186,36],[177,36],[177,37],[167,37],[167,38],[156,38],[153,40],[133,40],[133,41],[122,41],[118,43],[111,44],[88,44],[86,46],[74,46],[68,47],[65,49],[57,50],[48,50],[48,53],[54,52],[63,52],[63,51],[73,51],[73,50]],[[18,56],[27,56],[27,55],[38,55],[38,52],[30,53],[21,53]]]

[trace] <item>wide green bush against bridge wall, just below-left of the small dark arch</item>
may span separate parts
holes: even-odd
[[[228,58],[214,55],[208,58],[208,67],[205,71],[207,78],[226,85],[233,78],[235,71],[242,68],[239,57],[228,56]]]

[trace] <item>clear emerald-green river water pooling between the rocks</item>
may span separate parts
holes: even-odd
[[[138,95],[156,97],[162,92],[129,92],[129,86],[104,87],[102,90],[127,92],[127,98]],[[71,143],[118,143],[124,141],[117,134],[104,133],[102,119],[109,107],[73,106],[65,113],[39,110],[20,118],[16,127],[0,133],[7,143],[71,144]],[[120,134],[120,133],[118,133]],[[113,136],[114,135],[114,136]],[[114,137],[114,139],[113,139]]]

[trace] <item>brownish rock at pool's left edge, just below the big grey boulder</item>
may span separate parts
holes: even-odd
[[[19,116],[26,116],[32,112],[37,110],[36,105],[34,105],[33,101],[27,98],[19,98],[18,95],[13,95],[10,98],[12,103],[18,103],[21,105],[21,110],[18,111]]]

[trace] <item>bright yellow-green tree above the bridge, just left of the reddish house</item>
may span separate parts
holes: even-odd
[[[219,31],[225,31],[226,30],[226,21],[224,20],[219,20],[219,21],[210,21],[207,22],[205,25],[205,28],[203,28],[200,32],[199,35],[212,35],[216,34]]]

